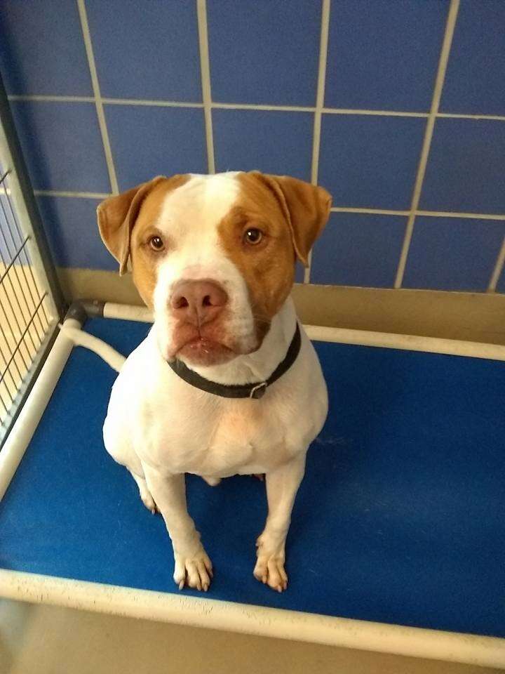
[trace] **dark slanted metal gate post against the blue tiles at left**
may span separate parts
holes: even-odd
[[[50,297],[53,300],[55,310],[58,313],[58,317],[61,320],[65,315],[65,306],[66,306],[65,298],[63,297],[63,293],[60,288],[60,282],[58,281],[58,276],[56,275],[55,266],[50,256],[46,236],[43,233],[41,216],[39,213],[39,209],[37,208],[36,199],[34,197],[34,193],[32,190],[32,185],[28,177],[25,159],[22,156],[20,142],[18,140],[18,135],[15,131],[15,125],[11,109],[8,104],[7,93],[5,90],[4,81],[1,77],[1,74],[0,74],[0,119],[1,119],[1,126],[3,126],[4,128],[4,135],[6,137],[8,150],[11,153],[13,168],[15,170],[16,177],[18,178],[22,202],[25,207],[29,223],[33,230],[36,248],[39,251],[39,258],[43,274],[46,277]]]

